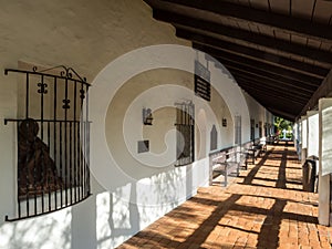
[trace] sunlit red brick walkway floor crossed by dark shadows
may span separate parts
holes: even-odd
[[[331,248],[318,195],[302,191],[292,144],[273,145],[227,188],[215,185],[121,245],[135,248]]]

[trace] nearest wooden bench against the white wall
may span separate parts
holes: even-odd
[[[239,176],[239,162],[237,160],[237,154],[234,151],[219,152],[212,156],[212,172],[224,175],[225,187],[228,184],[228,175],[236,172],[236,176]]]

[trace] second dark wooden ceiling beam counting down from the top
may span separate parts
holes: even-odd
[[[332,53],[321,51],[318,49],[303,46],[301,44],[290,43],[284,40],[277,40],[274,38],[253,33],[247,30],[237,29],[232,27],[222,25],[206,20],[199,20],[193,17],[178,14],[170,11],[155,9],[153,17],[156,20],[170,22],[174,25],[188,27],[191,29],[200,30],[201,32],[211,32],[224,37],[229,37],[237,40],[242,40],[251,44],[258,44],[264,48],[283,51],[287,53],[304,56],[311,60],[317,60],[325,63],[332,63]]]

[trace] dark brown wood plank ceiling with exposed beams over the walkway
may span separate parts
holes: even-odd
[[[295,120],[332,69],[331,0],[144,0],[274,115]]]

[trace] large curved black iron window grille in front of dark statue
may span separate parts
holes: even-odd
[[[59,74],[51,73],[61,70]],[[53,212],[91,195],[89,87],[72,68],[6,69],[19,82],[18,203],[14,221]],[[21,77],[20,77],[21,79]]]

